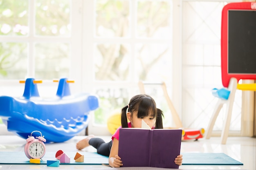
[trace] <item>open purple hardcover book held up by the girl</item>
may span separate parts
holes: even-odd
[[[179,168],[181,129],[121,128],[118,155],[123,167]]]

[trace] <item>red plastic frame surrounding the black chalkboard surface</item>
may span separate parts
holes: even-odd
[[[222,85],[256,79],[256,2],[226,4],[221,19]]]

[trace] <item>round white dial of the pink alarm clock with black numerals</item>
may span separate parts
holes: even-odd
[[[41,158],[45,155],[45,145],[39,141],[31,142],[28,145],[27,153],[31,158]]]

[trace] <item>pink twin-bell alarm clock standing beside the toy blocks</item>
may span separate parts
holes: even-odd
[[[36,137],[32,136],[33,132],[39,132],[41,136]],[[26,139],[27,144],[25,145],[24,151],[25,155],[31,159],[40,159],[45,155],[45,144],[46,139],[42,136],[42,133],[38,130],[31,132],[31,135]]]

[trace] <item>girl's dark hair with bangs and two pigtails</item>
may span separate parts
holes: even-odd
[[[153,116],[156,118],[155,128],[163,128],[162,110],[156,108],[155,100],[149,95],[135,95],[130,99],[130,103],[122,108],[121,112],[121,124],[122,128],[128,128],[128,121],[126,111],[133,113],[138,111],[137,117]],[[152,114],[152,115],[149,115]]]

